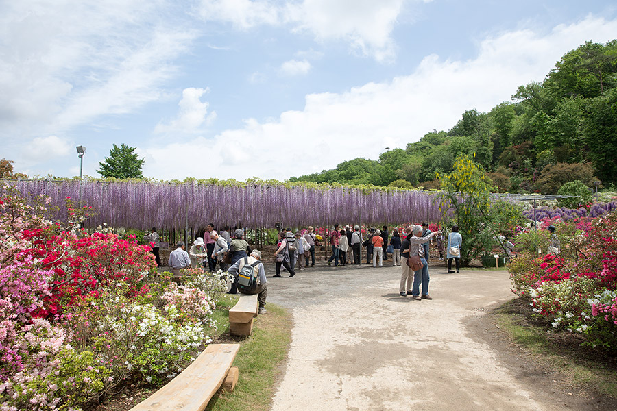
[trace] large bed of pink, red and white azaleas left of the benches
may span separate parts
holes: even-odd
[[[178,286],[134,238],[87,234],[90,208],[67,199],[71,225],[45,206],[0,199],[0,407],[69,410],[182,371],[213,331],[226,279]]]

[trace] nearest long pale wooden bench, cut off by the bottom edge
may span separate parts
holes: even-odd
[[[231,364],[239,348],[239,344],[208,345],[182,373],[130,411],[203,411],[223,382],[232,390],[238,381]]]

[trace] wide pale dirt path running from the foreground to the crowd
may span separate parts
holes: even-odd
[[[400,297],[399,279],[325,266],[268,280],[294,322],[272,410],[595,409],[526,377],[490,338],[487,311],[513,298],[505,271],[431,267],[433,301]]]

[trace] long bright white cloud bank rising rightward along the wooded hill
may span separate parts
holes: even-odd
[[[244,127],[215,138],[145,149],[145,175],[286,179],[384,147],[405,147],[433,129],[450,129],[465,110],[487,111],[509,100],[518,86],[542,81],[570,49],[590,38],[606,42],[615,33],[617,21],[590,16],[545,35],[520,30],[485,38],[472,60],[428,55],[409,75],[342,93],[307,95],[302,111],[283,112],[275,120],[248,119]],[[168,174],[161,175],[163,170]]]

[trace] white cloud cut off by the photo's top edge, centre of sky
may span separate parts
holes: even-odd
[[[232,23],[239,29],[291,25],[293,31],[309,32],[319,42],[345,41],[361,55],[387,61],[394,58],[391,32],[406,1],[419,0],[304,0],[282,4],[202,0],[199,14],[206,21]]]

